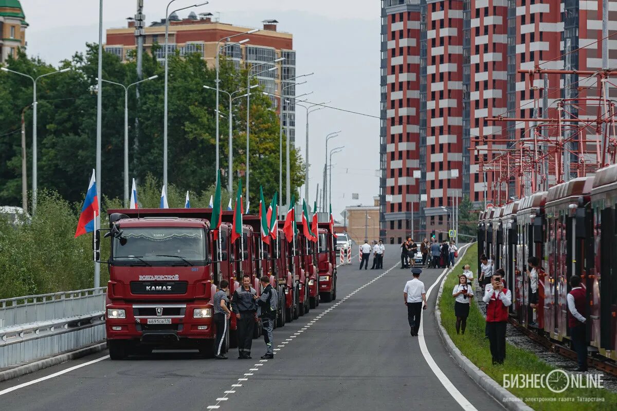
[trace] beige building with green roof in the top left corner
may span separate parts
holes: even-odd
[[[26,47],[28,23],[19,0],[0,0],[0,63]]]

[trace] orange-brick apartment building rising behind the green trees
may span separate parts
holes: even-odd
[[[0,0],[2,1],[2,0]],[[271,94],[283,94],[293,97],[296,95],[295,81],[289,79],[296,76],[296,51],[293,49],[293,36],[276,30],[276,20],[263,20],[263,28],[250,35],[238,36],[235,41],[249,39],[247,43],[231,44],[222,41],[224,47],[222,55],[231,59],[236,68],[247,65],[259,67],[251,68],[251,74],[261,73],[255,76],[264,91]],[[250,27],[236,26],[212,20],[212,14],[197,15],[193,12],[186,18],[179,18],[172,14],[168,25],[168,53],[178,51],[180,55],[199,53],[208,62],[210,67],[215,66],[217,42],[227,36],[246,33],[252,30]],[[165,19],[152,22],[143,28],[144,51],[151,51],[155,47],[155,55],[161,62],[164,59],[165,44]],[[107,30],[107,52],[118,55],[123,61],[135,58],[136,35],[135,21],[129,20],[126,28],[110,28]],[[284,57],[281,62],[264,64]],[[268,68],[278,67],[278,70],[267,71]],[[214,86],[214,84],[212,84]],[[280,110],[280,99],[271,97],[277,112]],[[284,99],[283,99],[284,100]],[[296,107],[293,100],[283,101],[283,126],[284,131],[289,129],[289,138],[295,142]],[[289,124],[288,124],[289,123]],[[288,128],[289,125],[289,128]]]

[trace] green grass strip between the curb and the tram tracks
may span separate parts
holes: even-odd
[[[477,254],[478,245],[471,245],[462,258],[463,261],[458,264],[445,280],[444,292],[438,301],[441,309],[442,325],[450,335],[450,338],[452,338],[452,341],[463,355],[501,386],[503,386],[504,374],[545,374],[554,370],[555,367],[542,362],[535,354],[516,348],[509,343],[506,348],[505,363],[503,365],[492,365],[489,340],[484,338],[484,317],[482,317],[475,303],[471,304],[465,335],[457,335],[452,288],[458,282],[457,275],[462,273],[463,265],[469,264],[471,271],[477,272]],[[481,296],[476,295],[475,298],[481,298]],[[617,409],[617,394],[613,394],[606,389],[568,388],[560,394],[555,394],[548,388],[508,388],[508,391],[523,399],[526,404],[535,410],[579,411],[581,409]],[[584,402],[584,399],[587,399],[586,402]],[[594,399],[600,399],[602,402],[591,402]]]

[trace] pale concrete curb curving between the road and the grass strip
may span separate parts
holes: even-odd
[[[466,254],[469,247],[465,248]],[[534,411],[529,405],[525,404],[521,399],[516,397],[514,394],[510,393],[507,389],[500,386],[497,381],[493,380],[490,376],[486,375],[480,368],[476,367],[470,359],[465,357],[460,349],[453,343],[452,339],[445,331],[443,325],[441,325],[441,310],[439,309],[439,299],[444,291],[444,283],[445,279],[447,279],[448,275],[454,271],[454,269],[458,266],[458,263],[462,261],[462,257],[458,258],[457,263],[454,265],[452,269],[450,269],[447,274],[444,275],[444,279],[441,280],[441,285],[439,285],[439,292],[437,293],[436,306],[435,306],[435,321],[437,322],[437,332],[439,332],[439,336],[441,336],[441,340],[444,342],[445,348],[450,353],[450,356],[454,359],[457,365],[467,373],[476,381],[476,384],[481,386],[484,391],[489,393],[495,401],[502,404],[505,409],[511,411]]]

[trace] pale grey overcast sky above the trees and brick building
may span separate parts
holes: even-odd
[[[94,0],[21,0],[26,20],[28,54],[56,65],[85,43],[98,41],[99,2]],[[167,0],[146,0],[146,22],[164,18]],[[176,0],[173,7],[188,6],[198,0]],[[104,0],[103,27],[122,27],[133,16],[136,0]],[[220,13],[221,22],[249,27],[275,18],[278,30],[294,35],[297,52],[296,73],[310,73],[308,83],[297,93],[313,91],[312,102],[331,100],[334,107],[379,115],[379,1],[376,0],[211,0],[207,6],[183,10]],[[296,146],[305,150],[305,114],[296,115]],[[118,120],[120,121],[120,120]],[[162,119],[161,119],[162,126]],[[323,109],[310,115],[310,203],[322,181],[325,136],[342,130],[329,141],[328,149],[344,145],[333,156],[333,213],[349,205],[373,205],[379,181],[379,120]],[[320,184],[321,186],[321,184]],[[320,187],[321,189],[321,187]],[[304,190],[302,192],[304,194]],[[359,200],[352,200],[359,193]]]

